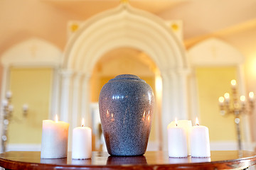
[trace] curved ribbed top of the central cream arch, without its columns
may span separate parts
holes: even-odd
[[[160,72],[188,68],[183,45],[164,21],[123,3],[82,24],[65,47],[63,69],[91,73],[97,60],[117,47],[146,52]]]

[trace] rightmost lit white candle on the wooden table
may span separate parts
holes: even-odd
[[[191,129],[191,157],[210,157],[209,130],[206,126],[196,125]]]

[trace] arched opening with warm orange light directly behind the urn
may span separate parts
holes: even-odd
[[[93,111],[92,116],[92,148],[101,150],[104,144],[100,127],[100,113],[98,111],[98,98],[102,86],[110,79],[119,74],[136,74],[144,79],[151,86],[155,96],[154,117],[149,137],[148,150],[159,149],[159,106],[158,96],[161,91],[156,89],[156,77],[159,76],[159,69],[151,58],[144,52],[130,48],[119,47],[107,52],[95,64],[90,78],[90,102]],[[157,91],[156,91],[157,90]]]

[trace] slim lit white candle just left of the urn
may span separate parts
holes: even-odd
[[[84,127],[73,129],[72,159],[90,159],[92,157],[92,129]]]

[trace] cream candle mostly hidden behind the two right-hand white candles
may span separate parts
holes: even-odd
[[[175,127],[176,123],[175,121],[172,121],[169,124],[169,127]],[[191,147],[190,147],[190,132],[192,128],[192,122],[191,120],[178,120],[177,121],[177,126],[179,128],[183,128],[186,132],[186,141],[187,141],[187,149],[188,149],[188,155],[191,155]]]

